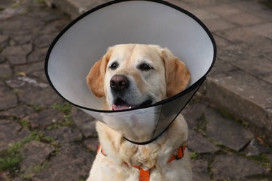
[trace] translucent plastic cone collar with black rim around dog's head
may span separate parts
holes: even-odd
[[[86,75],[108,47],[140,43],[167,47],[186,63],[186,90],[148,107],[102,109],[86,84]],[[197,17],[166,1],[111,1],[80,15],[50,46],[45,74],[56,93],[133,143],[149,143],[162,134],[195,95],[216,60],[216,44]]]

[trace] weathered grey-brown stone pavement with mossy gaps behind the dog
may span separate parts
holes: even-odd
[[[50,43],[71,21],[60,9],[75,17],[104,2],[82,8],[80,1],[54,9],[43,0],[0,1],[0,180],[88,176],[95,122],[61,100],[43,70]],[[202,19],[218,45],[216,65],[183,110],[194,180],[272,180],[272,8],[253,0],[170,2]]]

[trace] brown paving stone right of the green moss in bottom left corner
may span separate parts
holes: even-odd
[[[24,158],[20,163],[21,171],[26,173],[35,172],[33,167],[41,166],[54,150],[54,146],[39,141],[27,143],[24,145],[24,148],[20,150],[20,153]]]

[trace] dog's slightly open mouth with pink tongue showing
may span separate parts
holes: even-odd
[[[117,111],[117,110],[123,110],[123,109],[132,109],[135,107],[146,107],[152,104],[152,100],[146,100],[142,102],[142,104],[139,105],[132,105],[128,104],[128,102],[122,100],[120,97],[118,97],[115,101],[114,104],[112,104],[112,110]]]

